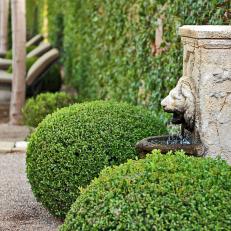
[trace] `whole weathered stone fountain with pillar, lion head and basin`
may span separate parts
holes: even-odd
[[[183,149],[231,164],[231,26],[183,26],[180,35],[183,76],[161,105],[190,132],[190,141],[169,146],[158,141],[163,137],[148,137],[137,149]]]

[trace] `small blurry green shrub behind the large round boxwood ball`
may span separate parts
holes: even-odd
[[[26,101],[22,109],[23,121],[28,126],[37,127],[48,114],[73,103],[74,99],[64,92],[42,93]]]

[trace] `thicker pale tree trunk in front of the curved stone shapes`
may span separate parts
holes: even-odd
[[[13,41],[13,81],[10,103],[10,123],[20,124],[21,109],[26,91],[26,15],[25,0],[11,0],[12,41]]]

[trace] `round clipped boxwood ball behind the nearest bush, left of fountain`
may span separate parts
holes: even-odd
[[[95,101],[47,116],[32,135],[27,175],[34,195],[50,212],[64,217],[105,167],[137,156],[138,140],[166,132],[154,113],[127,103]]]

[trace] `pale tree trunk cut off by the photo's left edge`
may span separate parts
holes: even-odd
[[[9,0],[0,1],[0,54],[4,55],[8,48]]]

